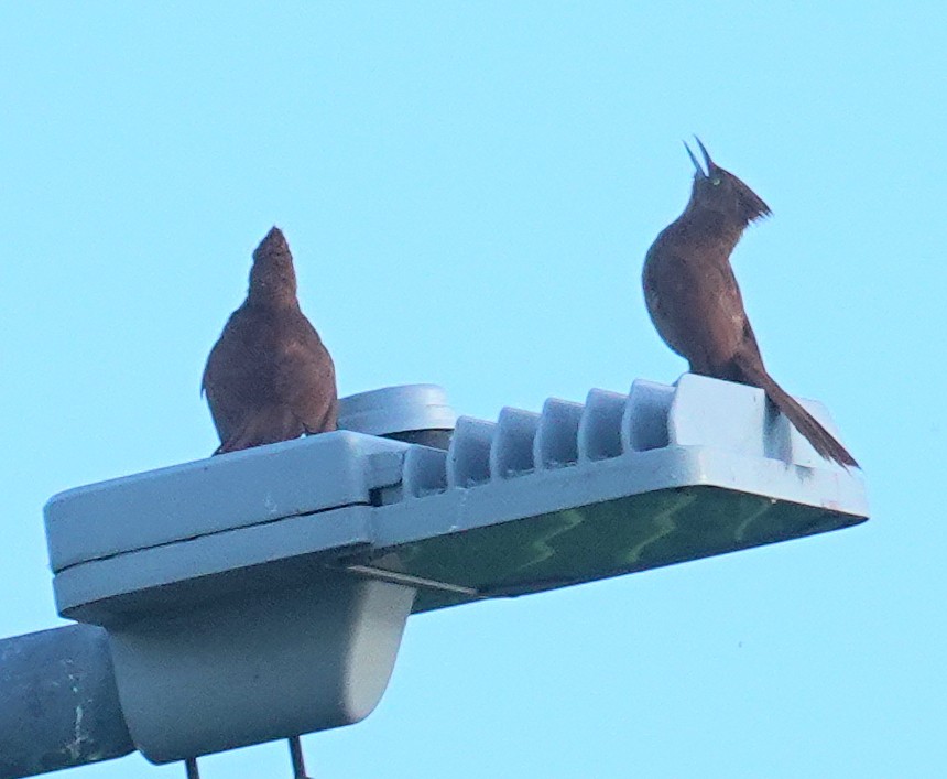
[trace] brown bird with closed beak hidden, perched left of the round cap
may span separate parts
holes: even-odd
[[[300,310],[277,227],[253,252],[247,300],[210,350],[202,391],[220,436],[214,454],[336,429],[333,358]]]

